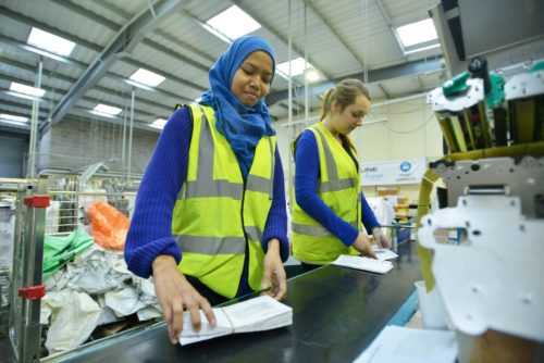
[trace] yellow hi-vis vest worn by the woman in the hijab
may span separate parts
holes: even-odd
[[[238,289],[245,253],[249,253],[249,287],[257,290],[262,283],[261,239],[273,199],[276,138],[259,140],[244,186],[236,155],[215,128],[213,109],[188,108],[193,135],[187,178],[172,217],[172,235],[183,252],[178,270],[231,299]]]

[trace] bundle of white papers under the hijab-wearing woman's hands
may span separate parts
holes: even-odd
[[[218,322],[217,326],[211,327],[200,311],[202,327],[198,333],[193,331],[189,312],[184,312],[180,345],[190,345],[236,333],[270,330],[293,324],[293,309],[269,296],[212,310]]]

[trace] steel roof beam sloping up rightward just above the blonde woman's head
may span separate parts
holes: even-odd
[[[409,63],[404,63],[399,65],[393,65],[385,68],[373,70],[368,73],[368,83],[382,82],[392,78],[409,77],[416,76],[422,73],[433,73],[443,70],[442,57],[431,60],[413,61]],[[308,95],[316,96],[323,93],[329,88],[336,86],[338,82],[345,78],[358,78],[360,80],[364,79],[364,72],[355,73],[351,75],[346,75],[343,77],[334,78],[331,80],[320,82],[308,87]],[[301,92],[298,97],[304,97]],[[288,97],[288,90],[281,90],[269,93],[267,97],[267,104],[272,105],[279,101],[285,100]]]

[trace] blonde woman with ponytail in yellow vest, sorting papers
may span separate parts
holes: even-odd
[[[362,125],[369,109],[364,85],[344,79],[325,92],[321,121],[293,142],[293,254],[305,271],[341,254],[375,258],[361,222],[380,247],[390,247],[362,195],[357,150],[348,136]]]

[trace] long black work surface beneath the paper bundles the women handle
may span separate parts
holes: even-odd
[[[323,266],[287,281],[293,325],[173,346],[164,325],[82,348],[58,362],[351,362],[413,291],[413,242],[398,246],[386,275]],[[75,355],[74,355],[75,353]]]

